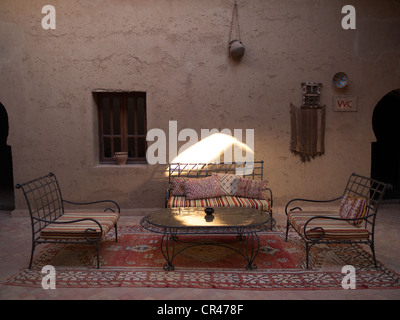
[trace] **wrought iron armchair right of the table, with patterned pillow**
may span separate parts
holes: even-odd
[[[373,254],[377,267],[374,231],[379,206],[390,184],[379,182],[358,174],[351,174],[342,196],[326,200],[293,199],[285,207],[287,215],[286,241],[292,227],[304,240],[306,268],[309,268],[309,251],[315,244],[366,244]],[[338,210],[302,210],[298,202],[328,203],[339,201]],[[296,205],[296,206],[295,206]]]

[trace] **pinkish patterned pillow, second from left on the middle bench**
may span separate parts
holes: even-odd
[[[219,185],[217,176],[185,181],[186,197],[189,200],[220,197],[224,193]]]

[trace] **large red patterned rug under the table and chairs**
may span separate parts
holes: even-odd
[[[257,269],[246,270],[245,259],[220,246],[196,246],[179,254],[174,271],[164,271],[160,250],[161,235],[138,226],[119,227],[118,242],[109,233],[101,243],[100,269],[96,251],[88,245],[48,244],[35,256],[32,269],[20,270],[6,285],[41,287],[42,267],[54,266],[57,288],[170,287],[243,290],[317,290],[343,289],[348,282],[345,265],[355,267],[356,289],[398,289],[400,276],[381,263],[374,268],[371,255],[358,245],[317,245],[311,249],[311,269],[305,269],[305,250],[294,233],[285,241],[284,230],[261,232]],[[192,236],[193,237],[193,236]],[[198,238],[179,237],[198,241]],[[215,236],[218,243],[244,248],[234,236]],[[38,248],[40,249],[40,247]],[[37,249],[37,250],[38,250]]]

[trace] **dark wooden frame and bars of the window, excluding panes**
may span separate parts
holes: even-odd
[[[144,164],[147,163],[146,151],[147,151],[147,103],[146,103],[146,92],[93,92],[93,96],[97,105],[98,111],[98,121],[99,121],[99,163],[100,164],[116,164],[114,159],[114,153],[116,151],[128,152],[127,164]],[[103,115],[103,104],[104,99],[110,99],[110,117],[109,117],[109,134],[104,133],[104,115]],[[120,132],[114,132],[114,113],[113,113],[113,99],[119,99],[119,128]],[[128,99],[133,98],[134,101],[134,132],[128,132]],[[138,133],[138,99],[144,99],[144,123],[143,133]],[[110,154],[111,157],[106,157],[104,140],[110,140]],[[114,139],[120,139],[121,148],[120,150],[115,150]],[[134,150],[129,150],[129,139],[134,139]],[[144,139],[144,150],[139,150],[139,139]],[[141,155],[141,156],[139,156]]]

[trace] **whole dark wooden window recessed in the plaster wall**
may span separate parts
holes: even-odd
[[[115,152],[128,152],[127,163],[146,163],[146,93],[94,92],[99,115],[99,162],[115,163]]]

